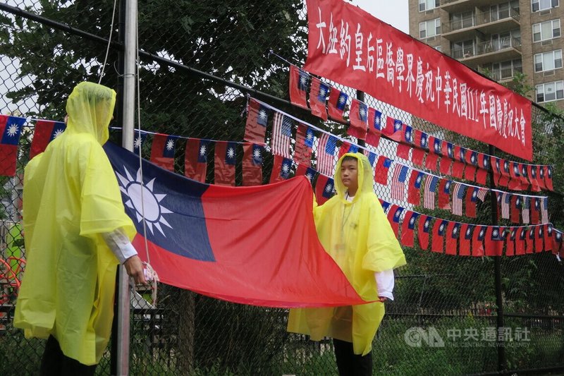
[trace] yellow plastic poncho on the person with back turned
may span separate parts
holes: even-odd
[[[53,335],[69,358],[99,362],[114,315],[118,260],[101,234],[135,227],[125,215],[102,145],[116,92],[78,84],[68,97],[66,131],[25,167],[23,229],[27,267],[14,326]]]

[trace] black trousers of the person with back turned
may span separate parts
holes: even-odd
[[[78,360],[69,358],[61,351],[61,346],[54,336],[49,336],[43,358],[41,359],[40,376],[93,376],[96,365],[84,365]]]

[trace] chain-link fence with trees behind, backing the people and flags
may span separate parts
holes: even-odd
[[[61,121],[66,97],[75,83],[99,77],[114,2],[15,0],[0,5],[2,114]],[[121,20],[123,3],[118,2],[114,41],[123,38]],[[246,93],[355,141],[346,135],[345,126],[322,123],[309,111],[287,102],[288,63],[269,51],[298,66],[305,60],[307,26],[302,0],[142,1],[138,25],[140,126],[181,137],[176,143],[177,173],[184,171],[185,138],[243,141]],[[111,44],[102,78],[102,84],[116,87],[118,95],[122,50],[123,45]],[[357,95],[353,89],[336,86],[351,97]],[[364,102],[430,135],[489,153],[488,145],[415,119],[368,95]],[[554,186],[558,189],[564,176],[558,161],[563,150],[563,121],[538,107],[533,108],[533,121],[534,163],[555,165]],[[113,125],[120,126],[118,121]],[[295,129],[293,132],[295,135]],[[44,341],[24,339],[11,325],[25,269],[19,221],[22,171],[31,135],[32,127],[25,128],[18,149],[18,174],[0,177],[1,375],[35,374],[44,347]],[[119,131],[113,131],[112,138],[119,140]],[[270,138],[271,123],[266,142]],[[211,145],[207,183],[214,183],[215,174],[213,142]],[[237,147],[235,181],[240,186],[243,147]],[[142,147],[144,157],[149,158],[150,148],[149,135]],[[383,138],[377,148],[368,148],[396,159],[396,142]],[[313,152],[317,152],[317,143]],[[268,183],[274,158],[264,152],[263,159],[263,180]],[[413,166],[409,161],[402,163]],[[406,206],[391,198],[388,185],[375,183],[374,188],[379,198]],[[562,196],[551,193],[548,202],[551,222],[563,228]],[[409,209],[458,222],[496,223],[489,196],[478,202],[476,218],[453,216],[447,210]],[[395,300],[386,303],[386,317],[374,340],[377,374],[493,374],[501,368],[538,372],[564,368],[564,267],[554,255],[497,260],[450,256],[422,250],[417,242],[404,251],[407,266],[396,270]],[[134,295],[132,375],[336,374],[331,341],[312,342],[288,334],[287,310],[216,301],[165,285],[159,285],[158,293],[157,308],[150,305],[150,291]],[[501,307],[498,302],[503,303]],[[502,334],[503,347],[496,341]],[[111,374],[110,358],[108,350],[97,374]]]

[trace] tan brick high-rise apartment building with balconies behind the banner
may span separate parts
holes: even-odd
[[[564,0],[563,0],[564,1]],[[410,35],[500,83],[525,73],[530,97],[564,109],[560,0],[409,0]]]

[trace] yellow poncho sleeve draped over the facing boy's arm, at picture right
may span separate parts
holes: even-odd
[[[374,198],[374,205],[369,208],[368,252],[362,260],[362,269],[384,272],[405,265],[406,262],[382,205],[376,196]]]

